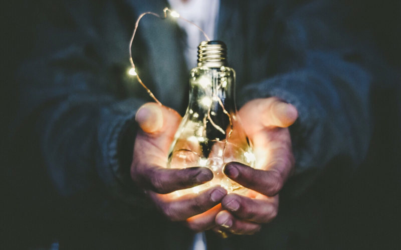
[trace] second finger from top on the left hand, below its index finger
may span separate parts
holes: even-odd
[[[191,193],[175,199],[168,195],[149,192],[150,197],[161,209],[161,212],[172,221],[183,221],[214,207],[227,194],[221,186],[211,187],[200,193]]]

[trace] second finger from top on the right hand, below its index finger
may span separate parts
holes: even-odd
[[[258,198],[250,198],[230,193],[223,198],[222,207],[238,218],[268,223],[277,216],[278,197],[259,195]]]

